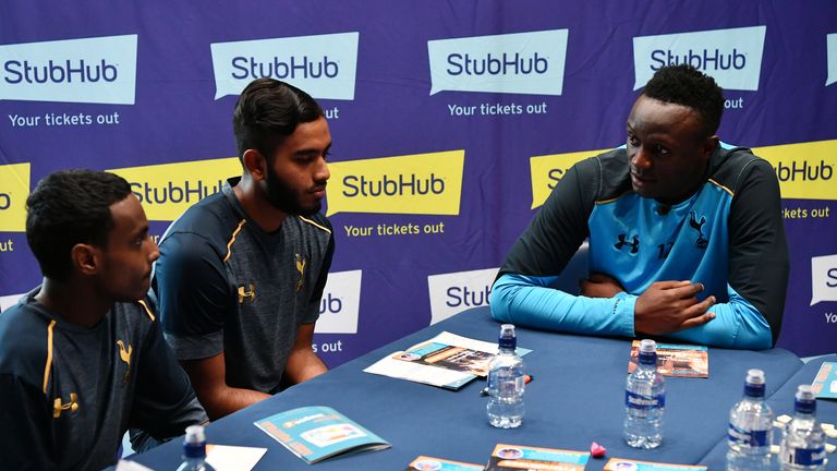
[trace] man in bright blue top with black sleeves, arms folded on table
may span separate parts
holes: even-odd
[[[509,252],[490,294],[502,322],[771,348],[788,249],[779,185],[747,148],[724,149],[715,81],[657,71],[633,105],[626,148],[573,166]],[[580,295],[550,288],[585,238]]]

